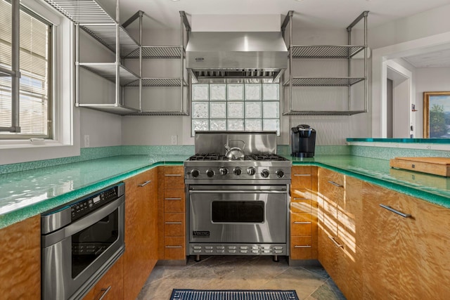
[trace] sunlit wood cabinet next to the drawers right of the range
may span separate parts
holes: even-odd
[[[347,299],[362,299],[362,181],[319,169],[319,261]]]

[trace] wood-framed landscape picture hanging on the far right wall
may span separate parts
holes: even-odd
[[[450,91],[423,92],[423,138],[450,138]]]

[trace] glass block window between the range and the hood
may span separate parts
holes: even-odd
[[[195,131],[276,131],[280,135],[279,84],[193,84]]]

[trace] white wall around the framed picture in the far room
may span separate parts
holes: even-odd
[[[423,92],[450,91],[450,67],[416,69],[416,133],[423,137]]]

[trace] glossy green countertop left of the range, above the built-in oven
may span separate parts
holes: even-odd
[[[0,175],[0,228],[189,155],[122,155]]]

